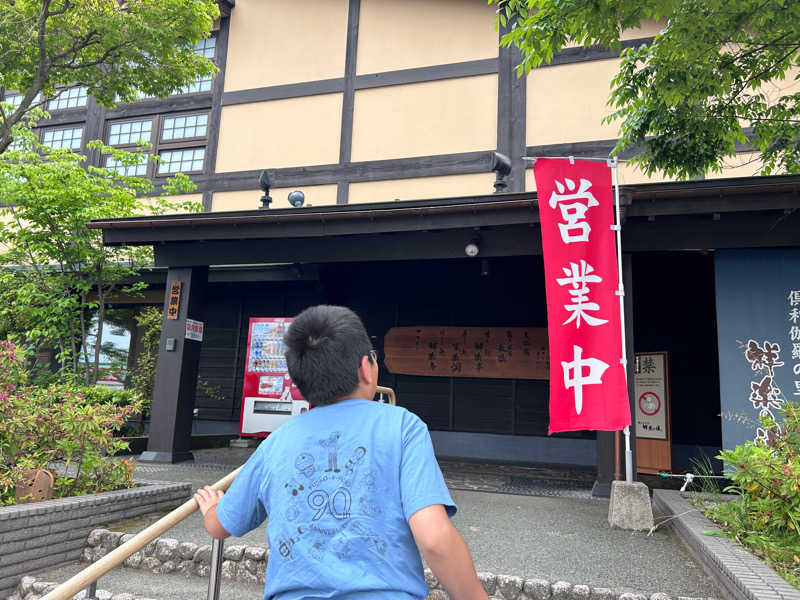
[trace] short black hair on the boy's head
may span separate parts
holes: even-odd
[[[372,350],[361,319],[344,306],[307,308],[294,318],[283,341],[289,376],[312,406],[351,394],[358,387],[361,359]]]

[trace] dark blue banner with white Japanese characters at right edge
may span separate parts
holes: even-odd
[[[722,447],[772,444],[760,417],[800,400],[800,249],[717,250],[714,273]]]

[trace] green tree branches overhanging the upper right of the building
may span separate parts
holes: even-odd
[[[649,44],[622,52],[607,122],[620,120],[615,153],[638,149],[645,172],[689,178],[722,168],[749,143],[763,172],[800,172],[800,2],[794,0],[489,0],[519,73],[568,43],[620,48],[623,30],[663,23]],[[580,93],[576,83],[575,93]]]

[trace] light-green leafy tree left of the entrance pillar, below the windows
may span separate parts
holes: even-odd
[[[18,334],[36,347],[58,350],[61,367],[97,380],[103,322],[108,298],[142,268],[152,264],[149,247],[108,247],[93,219],[193,212],[193,202],[150,197],[148,179],[121,175],[114,169],[87,166],[85,157],[38,142],[30,126],[14,127],[15,145],[0,154],[0,321],[14,324]],[[111,154],[122,164],[137,164],[142,153],[128,153],[89,142],[93,150]],[[155,157],[148,159],[155,160]],[[183,175],[169,179],[165,194],[191,191]],[[87,337],[97,315],[95,343]]]

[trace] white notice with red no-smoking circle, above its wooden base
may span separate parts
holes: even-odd
[[[667,354],[636,353],[636,437],[667,439]]]

